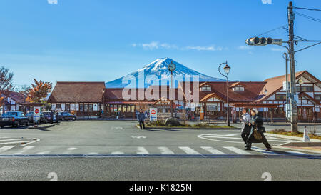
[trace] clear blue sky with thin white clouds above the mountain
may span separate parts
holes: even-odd
[[[51,0],[52,1],[52,0]],[[0,66],[14,84],[43,81],[111,81],[170,57],[221,78],[263,81],[285,74],[280,46],[246,46],[249,36],[287,24],[285,0],[1,0]],[[321,9],[321,1],[295,6]],[[321,19],[321,11],[295,10]],[[320,40],[321,23],[296,16],[295,34]],[[278,29],[265,36],[286,39]],[[297,49],[307,46],[299,44]],[[321,45],[297,53],[297,71],[321,78]]]

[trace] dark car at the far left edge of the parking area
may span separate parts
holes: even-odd
[[[0,117],[0,127],[13,126],[20,127],[21,125],[29,126],[28,117],[24,116],[22,111],[9,111]]]

